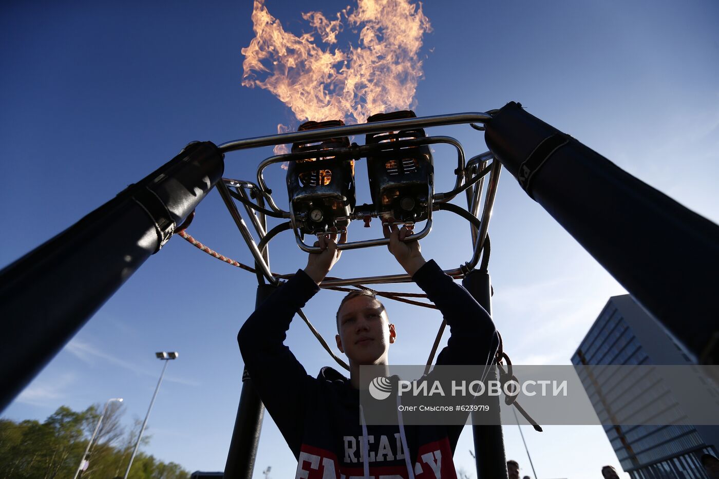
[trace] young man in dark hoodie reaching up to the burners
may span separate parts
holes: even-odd
[[[390,252],[450,327],[436,363],[490,363],[498,337],[487,312],[434,260],[424,260],[418,242],[405,242],[411,232],[384,229]],[[293,316],[339,260],[335,240],[320,237],[321,252],[309,255],[307,267],[267,298],[237,337],[260,398],[298,460],[296,478],[457,478],[452,455],[462,426],[360,424],[359,366],[387,365],[398,338],[377,298],[350,293],[337,311],[336,342],[349,359],[349,379],[329,367],[313,378],[283,345]],[[339,242],[346,240],[343,234]]]

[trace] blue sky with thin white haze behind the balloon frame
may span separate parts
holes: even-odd
[[[191,140],[216,143],[275,132],[291,112],[240,85],[253,37],[252,2],[6,3],[0,14],[0,265],[40,245],[172,158]],[[329,1],[267,0],[293,32],[301,12],[336,12]],[[690,209],[719,221],[719,5],[713,1],[427,2],[419,115],[483,111],[521,101],[621,168]],[[439,128],[469,155],[486,150],[469,127]],[[269,148],[226,156],[225,176],[254,178]],[[438,148],[437,189],[450,188],[454,160]],[[443,168],[446,165],[446,168]],[[450,168],[451,167],[451,168]],[[358,184],[366,177],[357,168]],[[268,173],[283,193],[284,172]],[[363,176],[365,175],[365,176]],[[366,181],[365,181],[366,183]],[[364,188],[364,189],[362,189]],[[367,188],[359,195],[367,196]],[[216,192],[188,232],[249,263]],[[357,237],[365,232],[351,230]],[[568,364],[609,296],[624,290],[521,191],[500,180],[492,224],[494,317],[516,363]],[[617,232],[622,234],[622,232]],[[471,255],[468,228],[437,214],[426,257],[454,268]],[[273,270],[306,257],[283,234]],[[88,258],[92,260],[92,258]],[[384,249],[350,251],[334,275],[396,273]],[[177,350],[155,403],[147,451],[189,470],[222,470],[240,391],[235,336],[253,309],[255,278],[172,239],[88,321],[3,416],[44,419],[61,404],[81,409],[123,397],[127,422],[142,417],[160,373],[157,350]],[[388,289],[396,290],[399,286]],[[334,334],[340,293],[323,292],[306,313]],[[393,363],[426,360],[439,316],[387,304],[398,327]],[[301,321],[288,345],[309,372],[331,358]],[[525,436],[540,478],[595,478],[617,466],[598,427],[547,426]],[[508,457],[528,467],[517,426],[505,427]],[[455,462],[474,473],[469,429]],[[293,458],[265,416],[256,477],[293,474]],[[628,476],[625,476],[628,477]]]

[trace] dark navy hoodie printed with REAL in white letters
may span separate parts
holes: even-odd
[[[498,345],[495,327],[470,293],[434,260],[412,280],[450,328],[436,364],[490,362]],[[293,316],[317,291],[298,270],[249,316],[237,336],[247,372],[298,460],[296,477],[457,478],[452,456],[463,426],[360,424],[359,391],[349,379],[329,367],[313,378],[283,344]]]

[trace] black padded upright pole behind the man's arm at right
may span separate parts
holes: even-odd
[[[462,280],[462,286],[492,316],[490,275],[486,271],[472,270]],[[495,374],[495,368],[490,368],[487,380],[496,380]],[[490,414],[495,416],[494,424],[472,426],[472,437],[475,440],[477,479],[507,479],[507,457],[504,450],[504,434],[499,412],[499,396],[490,396],[489,400]],[[484,420],[486,421],[486,417]]]

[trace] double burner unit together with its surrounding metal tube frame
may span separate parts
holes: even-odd
[[[319,247],[313,246],[313,240],[306,240],[306,236],[346,231],[352,220],[364,221],[365,227],[372,218],[380,219],[383,224],[392,222],[408,228],[421,223],[421,230],[414,232],[411,238],[422,239],[431,231],[432,214],[437,210],[451,211],[470,222],[472,257],[459,268],[446,270],[447,274],[461,278],[475,268],[482,257],[501,165],[493,160],[491,152],[465,161],[459,141],[440,135],[428,136],[425,129],[449,124],[472,124],[475,129],[482,129],[477,123],[488,119],[487,113],[418,118],[413,111],[393,111],[372,115],[363,124],[345,125],[339,120],[306,122],[297,132],[229,142],[221,145],[224,152],[278,144],[292,145],[292,148],[289,153],[262,160],[257,167],[257,183],[223,178],[218,191],[247,242],[257,269],[270,283],[277,283],[278,278],[270,273],[267,245],[282,231],[292,229],[298,247],[306,252],[319,252]],[[364,135],[365,145],[350,143],[350,137],[360,135]],[[440,144],[452,146],[457,153],[456,181],[451,191],[435,193],[430,146]],[[360,159],[367,161],[370,204],[357,204],[354,168]],[[275,204],[273,192],[265,184],[265,168],[275,163],[288,164],[288,210]],[[489,179],[482,201],[485,177]],[[466,209],[449,203],[460,193],[467,196]],[[258,242],[253,239],[233,198],[247,211],[260,238]],[[268,229],[266,216],[288,219],[288,222]],[[353,250],[388,243],[388,238],[377,237],[346,242],[338,248]],[[409,280],[408,275],[372,276],[326,280],[324,286]]]

